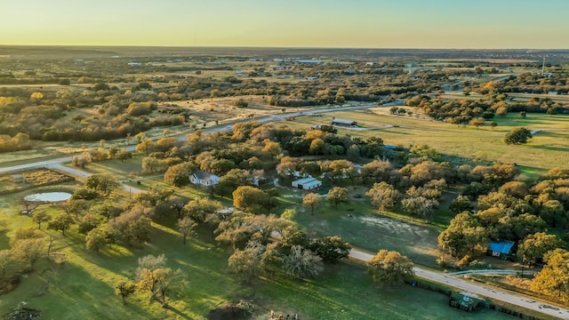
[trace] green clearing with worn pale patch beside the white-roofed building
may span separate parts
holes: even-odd
[[[366,197],[354,197],[364,188],[350,190],[349,204],[338,204],[337,207],[327,203],[324,196],[314,215],[301,206],[303,191],[284,188],[279,191],[283,199],[281,209],[295,209],[294,220],[308,230],[310,236],[341,236],[359,249],[372,253],[381,249],[394,250],[415,263],[437,268],[437,229],[379,215]]]

